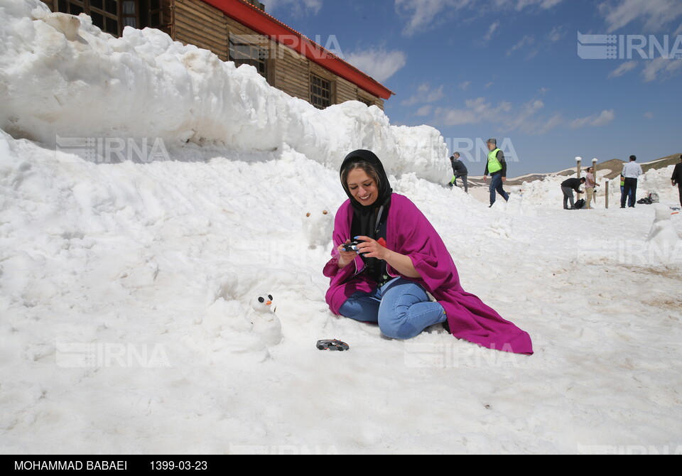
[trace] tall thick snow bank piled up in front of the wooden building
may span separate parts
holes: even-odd
[[[378,107],[320,111],[158,30],[102,33],[85,14],[50,13],[39,0],[0,1],[0,129],[54,146],[67,138],[160,138],[242,151],[283,144],[330,168],[357,148],[390,173],[447,180],[447,148],[429,126],[391,126]],[[92,111],[102,112],[94,116]]]

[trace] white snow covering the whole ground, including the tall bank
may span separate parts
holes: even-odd
[[[158,32],[63,21],[0,0],[2,453],[682,453],[681,215],[564,211],[553,179],[489,209],[440,185],[435,129],[318,112]],[[112,137],[163,146],[107,163]],[[534,355],[330,314],[336,167],[359,147]],[[640,186],[679,206],[669,175]]]

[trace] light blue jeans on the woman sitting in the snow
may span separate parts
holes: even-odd
[[[447,319],[440,303],[429,301],[424,288],[404,278],[394,278],[370,293],[354,293],[339,312],[363,323],[379,323],[382,334],[401,340]]]

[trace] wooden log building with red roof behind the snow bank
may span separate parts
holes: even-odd
[[[258,0],[43,1],[53,11],[86,13],[114,36],[126,26],[159,28],[221,60],[253,65],[271,86],[320,109],[350,100],[384,109],[384,100],[394,94],[266,13]]]

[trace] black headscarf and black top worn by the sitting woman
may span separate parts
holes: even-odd
[[[362,205],[355,200],[352,193],[350,193],[347,183],[342,183],[343,190],[345,190],[346,195],[350,198],[350,204],[353,207],[353,221],[350,226],[352,237],[349,238],[353,239],[353,237],[362,235],[364,237],[378,239],[377,228],[381,228],[380,225],[386,222],[386,217],[389,215],[393,189],[389,183],[389,178],[386,176],[386,171],[384,171],[384,165],[379,161],[379,158],[370,151],[359,150],[349,153],[343,160],[340,175],[343,174],[345,168],[350,166],[351,163],[359,161],[369,163],[374,167],[374,170],[377,171],[379,178],[379,196],[377,197],[377,200],[374,200],[372,205]],[[384,210],[381,212],[381,221],[377,223],[377,218],[379,218],[378,213],[381,207],[384,207]],[[386,272],[386,264],[383,261],[380,262],[376,258],[365,258],[362,255],[361,257],[365,264],[365,271],[379,282],[381,276]]]

